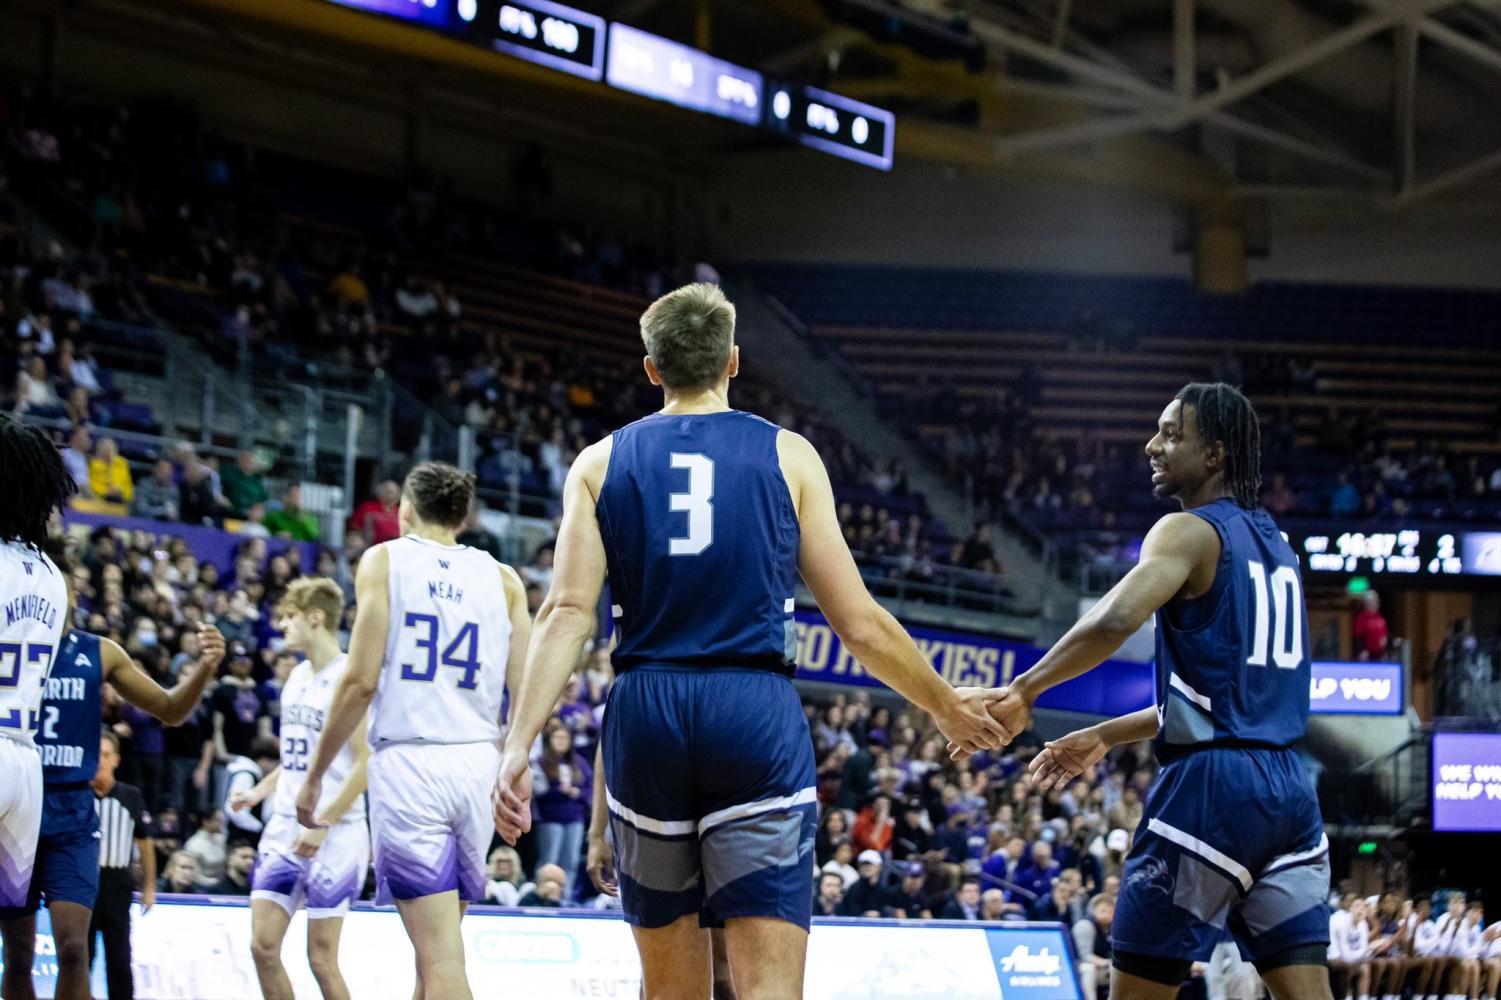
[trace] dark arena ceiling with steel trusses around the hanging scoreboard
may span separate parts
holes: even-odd
[[[898,113],[898,162],[1072,179],[1192,206],[1400,209],[1501,201],[1501,0],[573,0],[597,14]],[[702,162],[764,137],[321,0],[17,0],[146,45],[227,42],[246,65],[486,99]],[[390,54],[404,59],[392,60]],[[417,72],[420,65],[420,72]],[[519,108],[519,110],[518,110]],[[543,114],[564,108],[566,114]],[[666,125],[663,125],[666,122]],[[558,125],[561,128],[561,125]]]

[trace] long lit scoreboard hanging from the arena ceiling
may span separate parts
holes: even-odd
[[[896,116],[551,0],[327,0],[890,170]]]

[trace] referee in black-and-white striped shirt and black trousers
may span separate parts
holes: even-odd
[[[147,835],[146,800],[141,790],[114,779],[120,766],[120,737],[108,728],[99,734],[99,770],[95,772],[95,809],[99,812],[99,898],[89,926],[89,964],[95,941],[104,934],[104,974],[110,1000],[131,1000],[131,851],[141,853],[141,911],[156,901],[156,847]]]

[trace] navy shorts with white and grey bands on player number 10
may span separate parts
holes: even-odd
[[[1157,773],[1126,856],[1117,952],[1205,961],[1228,931],[1249,961],[1328,944],[1328,838],[1289,749],[1207,748]]]

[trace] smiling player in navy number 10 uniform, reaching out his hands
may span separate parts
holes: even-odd
[[[1261,437],[1226,384],[1178,392],[1147,443],[1153,494],[1183,505],[1141,562],[997,707],[1010,733],[1043,691],[1093,670],[1157,619],[1157,703],[1048,743],[1039,790],[1120,743],[1156,737],[1162,770],[1126,857],[1111,997],[1172,1000],[1223,928],[1277,1000],[1328,998],[1328,839],[1291,749],[1307,724],[1307,613],[1297,556],[1258,503]]]

